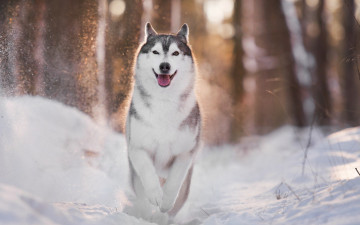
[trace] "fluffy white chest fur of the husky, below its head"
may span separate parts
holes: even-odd
[[[135,99],[133,104],[141,119],[131,121],[132,143],[148,152],[160,177],[167,177],[176,156],[195,145],[196,133],[181,128],[191,108],[174,100],[154,100],[145,105]]]

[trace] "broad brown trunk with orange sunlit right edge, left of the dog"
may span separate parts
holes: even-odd
[[[97,101],[96,1],[48,2],[45,95],[93,116]]]

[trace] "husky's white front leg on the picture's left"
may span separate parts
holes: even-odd
[[[129,149],[129,160],[144,187],[150,203],[161,206],[163,191],[149,155],[140,149]]]

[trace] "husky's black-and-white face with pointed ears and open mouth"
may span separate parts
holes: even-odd
[[[172,89],[193,80],[193,59],[188,46],[188,26],[176,35],[157,34],[150,23],[145,27],[146,42],[136,63],[137,78],[143,85]],[[141,76],[141,77],[139,77]]]

